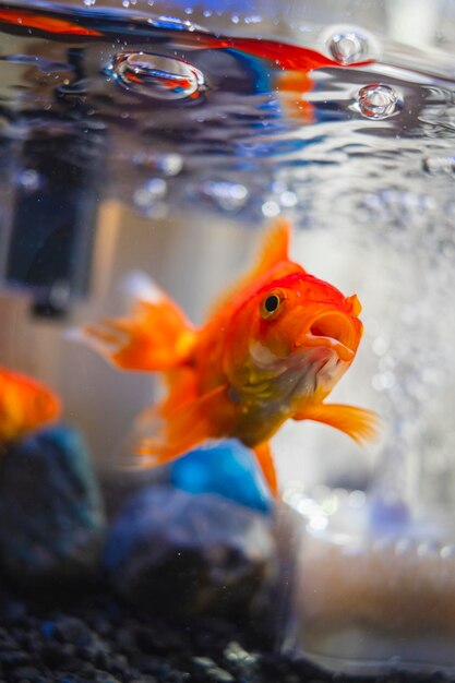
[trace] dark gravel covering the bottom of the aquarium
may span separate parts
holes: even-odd
[[[55,595],[55,591],[52,591]],[[69,597],[70,596],[70,597]],[[137,615],[109,592],[49,600],[0,596],[0,683],[300,683],[349,681],[272,654],[254,624]],[[367,679],[356,679],[367,680]],[[368,679],[447,680],[396,673]]]

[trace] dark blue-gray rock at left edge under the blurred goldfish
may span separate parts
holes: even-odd
[[[105,517],[86,446],[70,427],[35,432],[0,463],[0,560],[17,583],[86,579],[99,566]]]

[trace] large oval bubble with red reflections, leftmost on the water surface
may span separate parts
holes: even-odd
[[[181,59],[130,52],[118,55],[108,72],[117,83],[153,99],[195,99],[206,88],[203,73]]]

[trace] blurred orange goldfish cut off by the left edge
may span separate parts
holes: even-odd
[[[49,388],[24,374],[0,368],[0,447],[60,414]]]

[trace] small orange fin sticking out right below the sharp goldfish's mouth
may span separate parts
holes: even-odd
[[[345,432],[358,444],[373,440],[378,435],[380,424],[378,415],[372,410],[340,404],[309,404],[292,418],[324,422]]]

